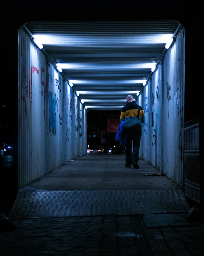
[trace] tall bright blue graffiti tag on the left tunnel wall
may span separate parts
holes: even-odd
[[[56,134],[57,131],[57,115],[56,115],[56,105],[57,105],[57,95],[53,97],[53,94],[49,93],[49,100],[50,100],[50,131],[52,130],[53,134]]]

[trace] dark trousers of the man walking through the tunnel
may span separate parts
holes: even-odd
[[[127,136],[126,144],[126,163],[138,163],[139,160],[139,146],[142,132],[137,132]],[[132,150],[133,145],[133,150]]]

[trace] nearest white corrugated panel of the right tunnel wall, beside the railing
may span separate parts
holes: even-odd
[[[164,172],[177,183],[183,179],[183,120],[185,38],[183,31],[164,59]]]

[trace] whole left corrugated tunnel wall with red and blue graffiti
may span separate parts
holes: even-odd
[[[19,188],[86,153],[86,110],[55,67],[19,31]],[[74,136],[73,136],[74,135]]]

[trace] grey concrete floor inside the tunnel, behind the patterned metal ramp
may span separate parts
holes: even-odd
[[[159,172],[140,159],[139,169],[125,167],[124,155],[82,156],[36,179],[23,190],[174,190],[166,176],[143,176]]]

